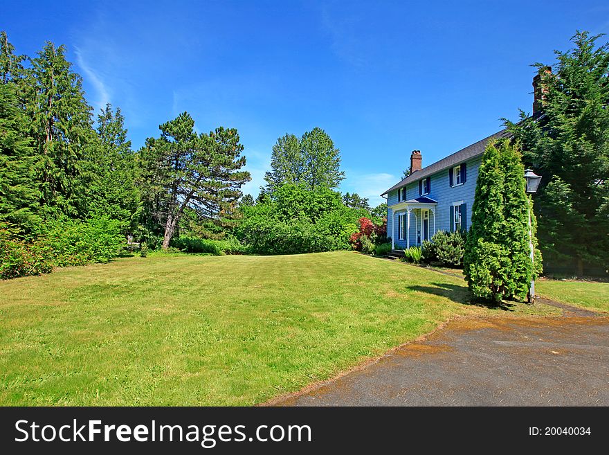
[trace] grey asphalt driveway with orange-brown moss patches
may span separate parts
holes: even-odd
[[[609,316],[466,319],[280,406],[608,406]]]

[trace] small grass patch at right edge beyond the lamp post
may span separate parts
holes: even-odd
[[[609,283],[576,280],[538,280],[535,293],[564,303],[609,312]]]

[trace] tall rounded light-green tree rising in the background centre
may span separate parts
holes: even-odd
[[[286,134],[273,145],[271,171],[266,172],[263,193],[272,195],[284,184],[299,184],[307,190],[337,188],[345,179],[340,170],[340,150],[321,128],[315,127],[298,139]]]

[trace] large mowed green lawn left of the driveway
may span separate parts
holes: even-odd
[[[1,405],[250,405],[451,316],[463,280],[353,252],[127,258],[0,282]]]

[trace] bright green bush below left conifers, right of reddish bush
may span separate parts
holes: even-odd
[[[126,247],[122,224],[107,217],[55,222],[40,242],[51,251],[53,265],[59,267],[108,262]]]

